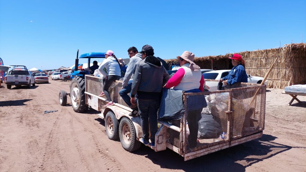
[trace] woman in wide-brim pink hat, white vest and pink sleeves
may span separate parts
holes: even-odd
[[[185,93],[197,93],[204,90],[204,78],[200,67],[196,65],[194,54],[184,51],[181,56],[177,56],[181,68],[169,79],[164,88],[182,90]],[[187,102],[187,122],[189,127],[188,148],[195,148],[197,145],[198,121],[201,119],[201,112],[207,106],[205,98],[203,100],[191,100],[194,97],[188,97]],[[187,98],[187,99],[188,99]],[[198,101],[198,102],[197,102]]]

